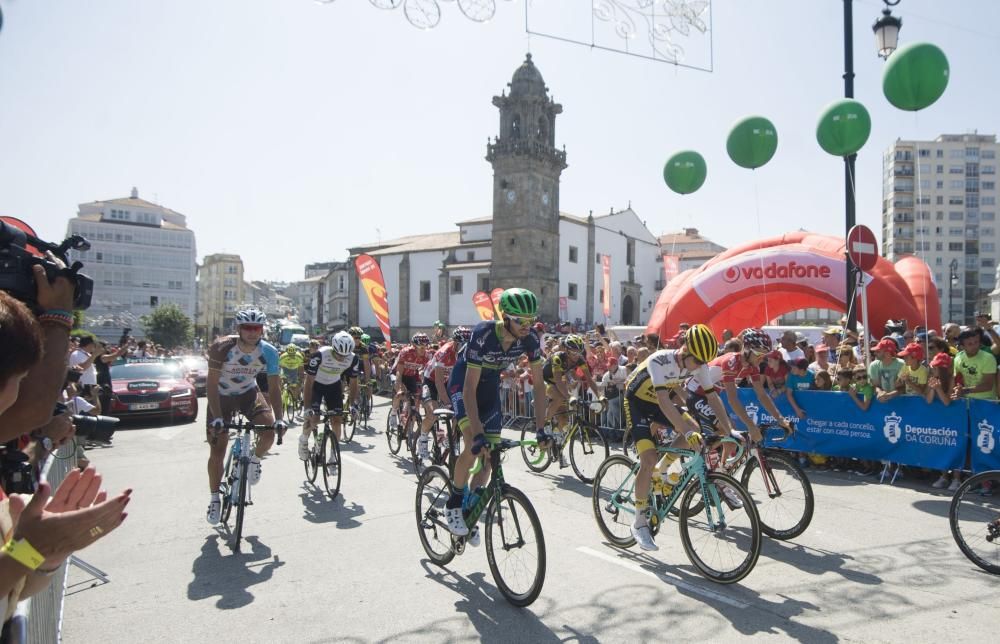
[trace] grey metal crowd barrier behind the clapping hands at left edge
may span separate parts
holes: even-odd
[[[70,441],[42,465],[41,475],[55,490],[66,475],[76,467],[76,443]],[[7,642],[14,644],[51,644],[62,639],[63,602],[66,597],[66,576],[72,559],[52,575],[52,581],[42,592],[19,602],[7,624]]]

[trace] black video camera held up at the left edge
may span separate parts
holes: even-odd
[[[69,268],[59,268],[54,262],[36,256],[27,249],[29,245],[39,252],[52,251]],[[70,235],[61,244],[50,244],[0,219],[0,289],[29,306],[36,306],[38,287],[31,267],[38,264],[45,269],[50,282],[59,276],[73,282],[73,308],[86,310],[94,295],[94,280],[79,272],[83,268],[81,262],[73,262],[70,266],[66,252],[71,248],[90,250],[90,242],[80,235]]]

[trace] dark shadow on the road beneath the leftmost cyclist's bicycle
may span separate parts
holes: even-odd
[[[229,555],[229,546],[221,535],[214,534],[201,547],[201,554],[194,560],[191,572],[194,579],[188,584],[188,599],[201,600],[219,596],[216,608],[229,610],[242,608],[253,602],[249,588],[269,581],[277,568],[285,565],[271,549],[257,537],[244,539],[247,546],[241,554]]]

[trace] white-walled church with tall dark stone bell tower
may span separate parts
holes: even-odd
[[[567,167],[566,151],[555,143],[562,105],[549,97],[531,54],[508,88],[493,97],[500,131],[486,148],[492,216],[457,222],[457,231],[349,249],[352,263],[362,253],[379,262],[394,340],[427,331],[435,320],[475,324],[473,294],[512,286],[535,292],[547,322],[645,324],[663,286],[658,240],[631,208],[586,217],[559,210],[559,179]],[[606,317],[604,255],[611,263]],[[356,273],[348,285],[348,316],[367,329],[378,327]]]

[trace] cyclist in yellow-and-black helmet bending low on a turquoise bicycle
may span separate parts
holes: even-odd
[[[672,427],[674,446],[697,447],[702,437],[698,423],[681,412],[670,398],[671,390],[680,388],[689,376],[706,392],[709,404],[720,418],[726,418],[722,400],[711,384],[708,362],[719,350],[712,330],[695,324],[687,330],[680,349],[661,349],[642,361],[625,381],[625,422],[635,439],[639,454],[639,473],[635,477],[635,520],[632,535],[643,550],[659,550],[649,530],[649,488],[656,467],[657,450],[653,428]],[[651,425],[653,427],[651,427]],[[660,432],[657,431],[657,434]],[[673,461],[666,455],[664,461]],[[665,469],[665,468],[664,468]]]

